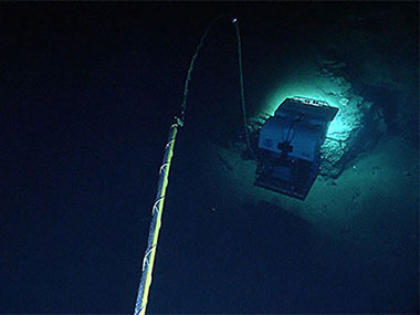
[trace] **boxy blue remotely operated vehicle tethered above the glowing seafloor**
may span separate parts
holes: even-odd
[[[304,200],[319,169],[319,149],[338,108],[287,97],[262,125],[254,185]]]

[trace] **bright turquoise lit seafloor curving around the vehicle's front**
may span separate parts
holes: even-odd
[[[276,84],[260,112],[255,113],[260,117],[273,115],[277,106],[291,96],[321,99],[339,108],[321,148],[321,174],[333,178],[338,177],[360,151],[371,148],[386,130],[380,109],[357,95],[344,76],[334,74],[343,66],[344,63],[325,61],[301,64]]]

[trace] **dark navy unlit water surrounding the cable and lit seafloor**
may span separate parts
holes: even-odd
[[[366,29],[379,39],[389,12],[403,36],[390,35],[396,49],[384,54],[418,69],[414,2],[2,3],[0,311],[133,311],[168,127],[213,18],[240,19],[252,111],[277,69],[313,57],[306,49],[326,50],[322,30]],[[398,50],[402,42],[411,50]],[[329,53],[359,63],[356,52]],[[406,266],[396,272],[401,263],[340,248],[287,209],[256,197],[233,204],[213,192],[223,186],[197,148],[242,128],[229,20],[210,33],[188,106],[150,313],[418,312],[418,248],[396,252]],[[395,111],[386,112],[392,124]],[[223,212],[209,211],[214,200]]]

